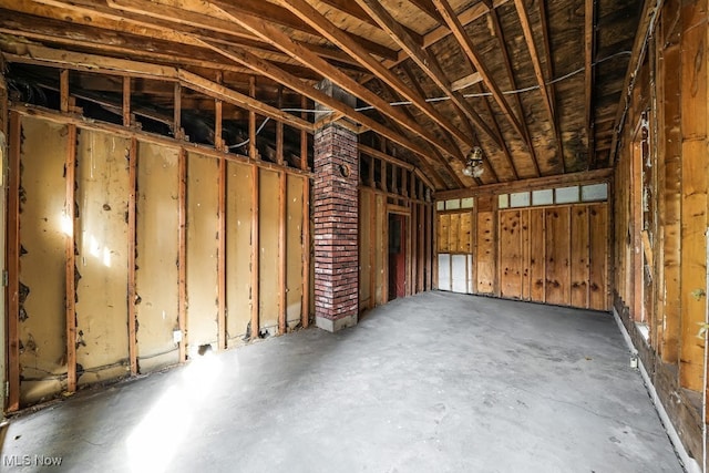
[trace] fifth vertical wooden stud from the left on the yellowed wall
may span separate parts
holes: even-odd
[[[227,166],[226,160],[219,160],[219,182],[217,200],[217,343],[218,350],[227,348],[226,340],[226,196],[227,196]]]

